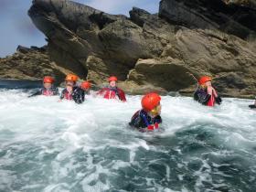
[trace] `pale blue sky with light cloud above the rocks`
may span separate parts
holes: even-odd
[[[160,0],[73,0],[109,14],[129,16],[133,6],[157,13]],[[46,45],[42,34],[32,23],[27,10],[32,0],[0,0],[0,58],[16,52],[16,47]]]

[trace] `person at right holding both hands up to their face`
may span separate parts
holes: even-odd
[[[211,78],[208,76],[201,77],[198,80],[199,87],[194,93],[194,100],[203,105],[213,107],[215,103],[221,104],[221,98],[217,91],[211,85]]]

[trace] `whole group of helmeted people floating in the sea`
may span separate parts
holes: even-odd
[[[74,74],[67,75],[65,79],[65,89],[60,92],[54,86],[54,78],[46,76],[43,79],[43,88],[40,91],[30,95],[54,96],[60,95],[59,101],[68,100],[82,103],[85,100],[85,95],[91,94],[91,82],[88,80],[78,83],[79,77]],[[118,79],[112,76],[108,79],[108,86],[97,91],[96,95],[107,100],[120,100],[125,102],[126,97],[122,89],[117,87]],[[194,92],[194,100],[202,105],[214,107],[216,104],[221,104],[221,98],[218,92],[212,86],[212,79],[208,76],[203,76],[197,80],[197,90]],[[159,128],[162,123],[161,118],[161,96],[156,92],[145,94],[141,101],[142,109],[133,114],[129,125],[141,132],[152,132]],[[250,108],[256,108],[256,101]]]

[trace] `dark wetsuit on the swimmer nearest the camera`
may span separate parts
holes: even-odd
[[[162,118],[160,115],[152,118],[147,114],[147,112],[145,112],[144,110],[140,110],[133,114],[129,125],[137,129],[144,129],[147,128],[149,125],[155,123],[162,123]]]

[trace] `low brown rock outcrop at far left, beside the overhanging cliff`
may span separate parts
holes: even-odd
[[[13,56],[0,59],[0,79],[41,80],[52,75],[60,83],[70,71],[51,61],[47,48],[18,46]]]

